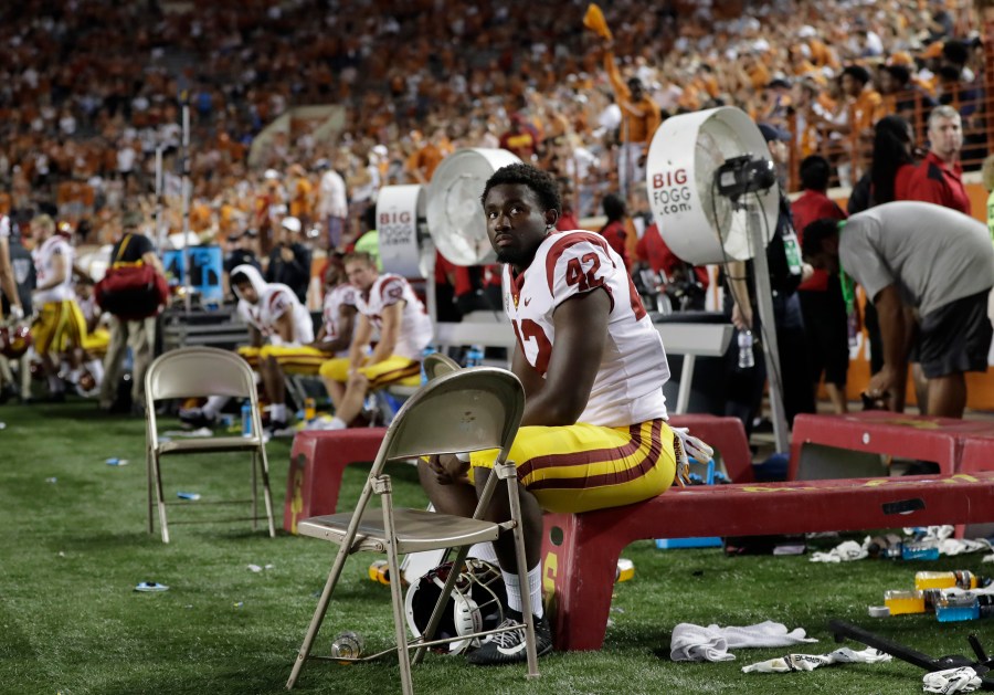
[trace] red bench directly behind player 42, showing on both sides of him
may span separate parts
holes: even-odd
[[[672,415],[669,423],[675,428],[690,428],[695,436],[713,446],[732,481],[755,480],[745,430],[737,418]],[[297,519],[335,514],[346,466],[372,462],[385,433],[385,428],[297,433],[290,451],[283,528],[296,534]]]

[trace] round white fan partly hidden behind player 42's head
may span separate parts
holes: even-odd
[[[429,232],[447,261],[466,266],[497,262],[479,197],[497,169],[520,162],[506,149],[467,148],[435,169],[427,190]]]

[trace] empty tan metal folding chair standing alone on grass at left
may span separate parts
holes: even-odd
[[[222,452],[248,452],[252,454],[252,516],[253,528],[258,527],[258,481],[265,502],[269,537],[276,535],[273,519],[273,498],[269,492],[269,464],[263,439],[262,418],[255,375],[248,364],[235,352],[211,347],[190,347],[171,350],[158,357],[145,375],[145,392],[148,398],[146,413],[146,468],[148,474],[148,533],[155,530],[154,507],[158,507],[162,543],[169,543],[166,520],[167,503],[162,492],[161,459],[179,454],[211,454]],[[203,398],[229,396],[246,399],[251,409],[251,436],[212,436],[172,439],[159,438],[156,420],[158,400],[175,398]],[[220,501],[215,504],[245,503],[246,501]],[[199,504],[210,504],[208,502]]]

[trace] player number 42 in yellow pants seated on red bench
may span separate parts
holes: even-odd
[[[603,236],[557,232],[553,179],[528,165],[499,169],[483,194],[487,233],[504,266],[504,304],[517,346],[512,371],[525,386],[521,429],[510,451],[518,468],[528,587],[516,573],[510,534],[495,543],[510,619],[524,600],[536,620],[539,654],[552,650],[542,614],[542,510],[579,513],[654,497],[674,482],[684,452],[710,449],[667,424],[663,341]],[[421,483],[443,513],[472,515],[495,452],[433,456]],[[470,487],[466,483],[475,486]],[[509,518],[495,496],[487,518]],[[475,664],[525,661],[525,631],[498,633],[467,656]]]

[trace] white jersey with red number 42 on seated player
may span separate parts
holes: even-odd
[[[598,287],[611,297],[611,313],[601,366],[580,422],[624,427],[666,418],[663,385],[669,379],[669,365],[663,339],[624,261],[600,234],[552,233],[521,275],[514,277],[511,266],[505,265],[504,309],[515,327],[518,349],[544,377],[556,343],[556,307]]]

